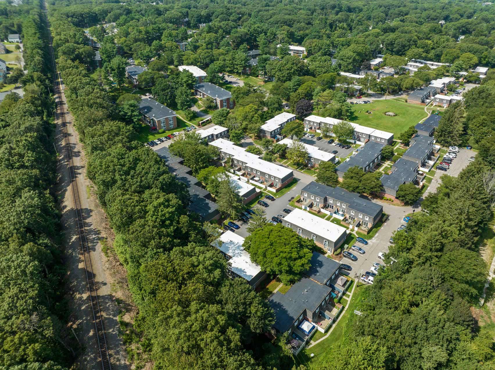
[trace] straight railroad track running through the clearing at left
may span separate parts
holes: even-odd
[[[76,182],[76,174],[74,172],[74,163],[72,161],[72,149],[70,147],[70,140],[67,134],[67,123],[65,121],[65,109],[62,104],[62,84],[60,73],[56,69],[55,63],[55,54],[53,52],[52,40],[51,40],[51,32],[49,33],[50,37],[50,54],[51,61],[53,65],[53,71],[55,73],[55,102],[56,109],[58,109],[59,116],[61,118],[62,123],[62,132],[64,136],[64,147],[65,147],[65,155],[67,157],[67,163],[69,164],[69,175],[70,175],[70,185],[72,188],[72,195],[74,197],[74,206],[76,210],[76,218],[77,225],[79,231],[79,242],[81,245],[81,251],[83,253],[84,258],[84,266],[86,270],[86,281],[88,283],[88,289],[90,293],[91,299],[91,308],[93,310],[93,320],[95,322],[95,329],[97,332],[98,339],[98,349],[99,349],[99,358],[101,362],[101,367],[103,370],[111,370],[112,366],[110,363],[110,355],[108,353],[108,346],[106,343],[105,337],[105,327],[103,325],[103,318],[101,315],[101,310],[99,307],[98,301],[98,291],[93,275],[93,264],[91,263],[91,254],[88,248],[88,241],[86,239],[86,230],[84,228],[84,217],[82,213],[81,200],[79,198],[79,189]]]

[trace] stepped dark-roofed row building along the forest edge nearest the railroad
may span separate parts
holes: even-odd
[[[176,176],[176,179],[186,184],[189,192],[188,210],[191,213],[197,213],[201,222],[217,220],[220,218],[220,212],[216,203],[213,203],[211,194],[201,188],[199,180],[192,176],[192,170],[183,165],[184,160],[170,153],[167,147],[157,149],[156,154],[165,161],[169,171]]]

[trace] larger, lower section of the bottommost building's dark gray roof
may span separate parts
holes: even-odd
[[[311,312],[316,310],[330,290],[326,285],[302,278],[285,294],[277,291],[268,298],[268,304],[275,312],[275,329],[286,332],[304,309]]]

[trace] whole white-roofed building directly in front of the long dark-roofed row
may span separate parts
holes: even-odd
[[[330,253],[340,247],[347,238],[345,227],[299,208],[293,209],[285,216],[283,225],[291,228],[303,238],[312,239],[318,247]]]

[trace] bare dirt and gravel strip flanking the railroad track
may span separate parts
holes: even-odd
[[[65,96],[62,102],[67,112]],[[99,206],[96,197],[91,196],[91,182],[86,178],[86,158],[79,142],[79,136],[73,125],[70,114],[65,115],[70,145],[73,153],[74,171],[77,177],[77,186],[80,193],[81,207],[88,245],[91,251],[95,282],[98,288],[99,304],[103,315],[105,335],[110,351],[110,361],[113,370],[130,369],[127,363],[122,339],[119,336],[119,323],[117,317],[120,311],[132,312],[130,295],[127,291],[127,279],[124,268],[113,257],[105,257],[101,250],[100,240],[106,238],[110,242],[113,234],[106,220],[106,215]],[[99,352],[96,337],[95,324],[88,298],[88,286],[86,272],[82,259],[79,242],[78,227],[75,217],[74,200],[70,187],[67,158],[63,134],[61,131],[60,117],[56,116],[55,146],[60,153],[57,174],[57,195],[60,201],[62,214],[61,223],[65,234],[65,263],[67,268],[67,285],[70,296],[68,296],[71,312],[71,326],[75,330],[81,343],[80,356],[76,359],[75,369],[100,369]]]

